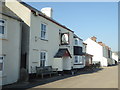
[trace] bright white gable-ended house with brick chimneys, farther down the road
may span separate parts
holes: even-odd
[[[85,40],[87,44],[86,52],[93,55],[93,63],[100,62],[101,66],[113,64],[112,51],[102,42],[97,42],[96,37],[91,37]]]

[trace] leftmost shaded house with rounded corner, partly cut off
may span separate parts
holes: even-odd
[[[0,9],[0,85],[6,85],[19,79],[22,21],[4,3]]]

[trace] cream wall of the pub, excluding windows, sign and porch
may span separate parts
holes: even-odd
[[[49,20],[40,17],[40,16],[34,16],[31,13],[31,10],[29,10],[24,5],[20,4],[18,1],[14,0],[14,2],[7,2],[6,6],[10,8],[16,15],[18,15],[26,24],[24,26],[24,29],[29,29],[30,32],[23,32],[23,36],[27,34],[27,36],[23,37],[23,39],[28,40],[29,42],[22,42],[22,53],[27,52],[28,53],[28,71],[29,73],[35,73],[35,67],[40,66],[40,52],[46,51],[47,52],[47,62],[46,65],[51,66],[53,65],[53,59],[55,54],[57,53],[59,48],[68,48],[71,56],[73,56],[73,32],[68,31],[53,22],[50,22]],[[23,14],[23,12],[25,12]],[[47,25],[47,40],[41,40],[41,23],[44,23]],[[61,33],[69,33],[69,41],[70,45],[60,45],[60,35],[59,30],[61,30]],[[24,48],[26,48],[24,50]],[[68,70],[70,70],[73,66],[73,59],[70,58],[70,63],[68,62],[69,67],[67,67]]]

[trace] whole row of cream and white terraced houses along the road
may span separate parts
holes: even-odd
[[[14,0],[1,3],[0,80],[2,85],[17,82],[24,69],[52,66],[59,72],[84,68],[100,62],[114,64],[111,48],[96,37],[83,41],[73,30],[52,18],[52,8],[41,11]]]

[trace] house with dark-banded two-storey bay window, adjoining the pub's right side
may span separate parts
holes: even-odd
[[[87,44],[83,42],[81,38],[74,34],[74,44],[73,44],[73,60],[74,69],[84,68],[92,64],[93,55],[86,53]]]

